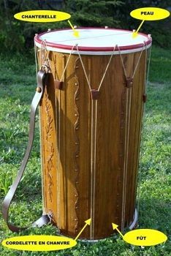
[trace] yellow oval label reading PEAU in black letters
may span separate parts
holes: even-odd
[[[144,7],[135,9],[130,15],[138,20],[162,20],[170,16],[170,12],[156,7]]]

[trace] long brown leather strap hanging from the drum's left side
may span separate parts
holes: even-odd
[[[10,187],[9,191],[7,192],[6,197],[4,198],[4,202],[2,203],[2,215],[4,217],[5,222],[7,223],[7,226],[9,227],[9,230],[13,232],[19,232],[20,230],[25,230],[27,227],[16,227],[12,223],[9,222],[9,206],[12,202],[12,198],[15,195],[15,191],[18,188],[18,184],[20,183],[20,179],[23,176],[23,172],[26,168],[28,158],[31,152],[33,140],[34,140],[34,128],[35,128],[35,116],[36,116],[36,110],[39,105],[40,100],[42,99],[42,95],[44,92],[45,83],[48,77],[48,73],[45,71],[39,70],[37,73],[37,91],[34,94],[34,98],[31,102],[31,116],[30,116],[30,124],[29,124],[29,135],[28,135],[28,146],[26,148],[26,153],[23,158],[23,162],[20,165],[20,170],[18,171],[18,175],[15,178],[15,181],[13,182],[12,186]],[[47,224],[50,222],[50,217],[48,215],[42,215],[36,222],[33,223],[34,226],[41,227],[42,225]]]

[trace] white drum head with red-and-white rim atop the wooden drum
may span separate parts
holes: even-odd
[[[80,37],[75,37],[72,29],[62,29],[49,31],[36,35],[35,44],[41,48],[46,45],[47,50],[53,50],[61,53],[87,55],[108,55],[118,54],[118,48],[121,53],[132,53],[149,48],[151,46],[151,37],[146,34],[138,33],[137,37],[132,38],[132,31],[122,29],[95,29],[82,28],[77,29]],[[118,45],[118,48],[115,47]]]

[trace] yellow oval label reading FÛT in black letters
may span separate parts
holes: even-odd
[[[158,230],[132,230],[123,236],[123,240],[137,246],[152,246],[167,241],[167,236]]]

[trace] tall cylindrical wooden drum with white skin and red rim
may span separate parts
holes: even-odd
[[[40,104],[45,214],[61,234],[106,238],[137,222],[136,188],[151,36],[121,29],[34,38],[50,72]]]

